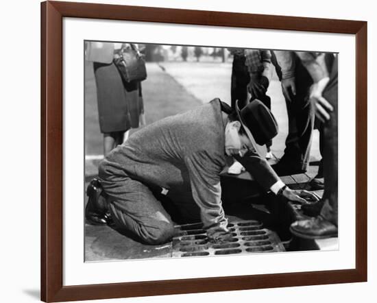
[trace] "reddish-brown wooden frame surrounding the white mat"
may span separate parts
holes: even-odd
[[[356,35],[356,268],[63,286],[62,19],[254,27]],[[41,299],[124,298],[367,281],[367,22],[47,1],[41,3]]]

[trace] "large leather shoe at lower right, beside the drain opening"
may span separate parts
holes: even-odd
[[[321,216],[295,221],[290,228],[292,234],[304,239],[326,239],[338,237],[338,227]]]

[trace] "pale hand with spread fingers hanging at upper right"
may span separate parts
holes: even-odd
[[[328,103],[328,101],[324,97],[322,97],[322,92],[328,84],[328,80],[329,78],[325,77],[319,80],[319,82],[313,84],[311,88],[310,101],[315,108],[315,115],[322,122],[330,120],[330,112],[334,110],[334,108],[332,108],[332,105]]]

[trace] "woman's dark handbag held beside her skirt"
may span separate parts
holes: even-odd
[[[131,45],[131,48],[122,49],[113,62],[125,82],[147,79],[144,59],[134,45]]]

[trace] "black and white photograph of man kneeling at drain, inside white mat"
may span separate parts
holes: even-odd
[[[337,250],[338,57],[86,40],[85,261]]]

